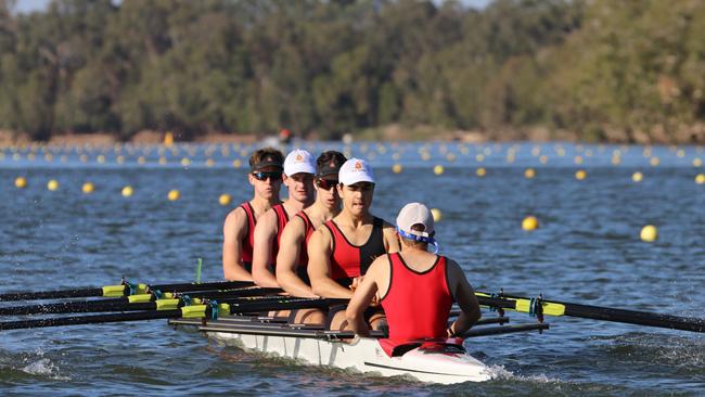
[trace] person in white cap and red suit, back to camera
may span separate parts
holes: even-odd
[[[360,336],[370,334],[362,313],[377,300],[387,316],[387,354],[395,346],[419,340],[454,337],[479,319],[475,292],[458,264],[436,255],[433,215],[421,203],[407,204],[397,217],[401,252],[374,260],[350,299],[347,321]],[[428,252],[428,245],[434,252]],[[448,326],[452,303],[461,313]]]

